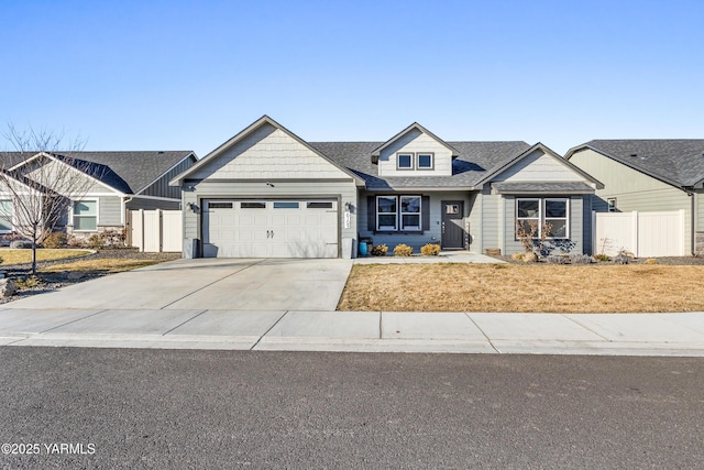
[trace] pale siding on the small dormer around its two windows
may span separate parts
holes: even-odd
[[[397,153],[432,153],[432,170],[398,170]],[[452,175],[452,152],[432,136],[411,129],[386,146],[378,156],[380,176],[450,176]]]

